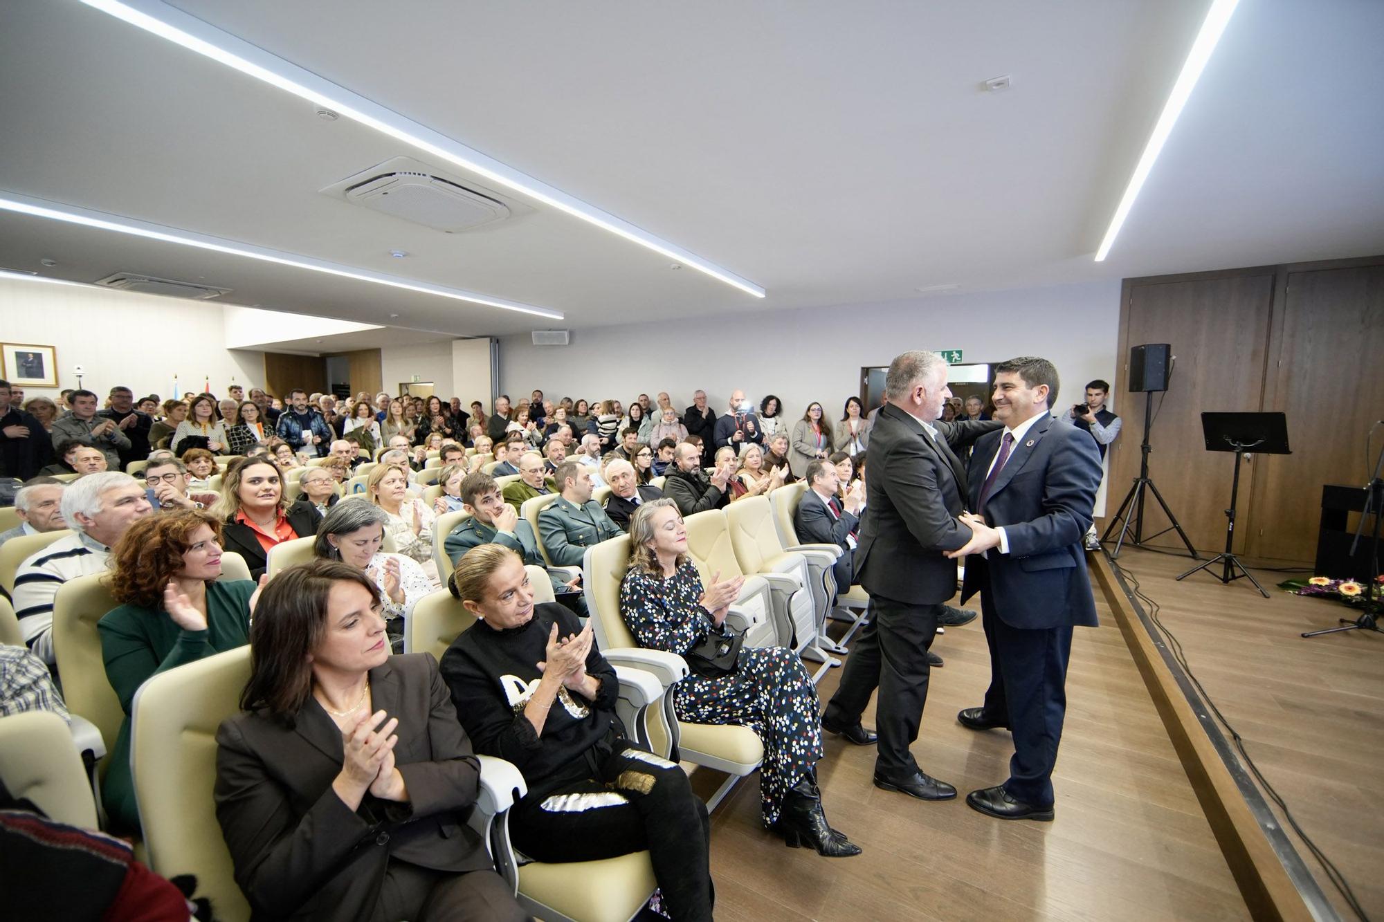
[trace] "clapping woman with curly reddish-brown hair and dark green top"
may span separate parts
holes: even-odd
[[[101,658],[125,710],[101,802],[112,825],[138,832],[130,777],[130,710],[151,676],[249,642],[255,583],[221,581],[221,525],[179,509],[134,522],[111,552],[111,595],[119,608],[97,624]]]

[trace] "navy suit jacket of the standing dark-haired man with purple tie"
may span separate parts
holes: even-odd
[[[972,453],[973,508],[1001,435],[984,436]],[[1091,527],[1100,475],[1100,453],[1089,433],[1049,415],[1038,419],[1013,447],[985,497],[985,522],[1003,526],[1009,554],[992,548],[967,557],[962,601],[987,590],[995,613],[1010,627],[1095,627],[1081,537]]]

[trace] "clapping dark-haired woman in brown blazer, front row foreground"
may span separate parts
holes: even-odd
[[[375,584],[313,561],[256,613],[215,789],[253,918],[527,918],[466,825],[480,764],[437,662],[390,656]]]

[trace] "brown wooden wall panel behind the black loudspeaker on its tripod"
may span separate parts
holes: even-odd
[[[1127,280],[1124,293],[1114,404],[1124,418],[1124,429],[1111,449],[1106,515],[1114,515],[1129,485],[1139,476],[1146,404],[1143,393],[1129,393],[1128,389],[1129,347],[1167,342],[1172,345],[1176,364],[1169,389],[1153,395],[1156,417],[1149,472],[1192,544],[1199,551],[1222,550],[1233,457],[1205,450],[1201,413],[1259,408],[1273,271]],[[1241,509],[1250,498],[1247,479],[1253,479],[1250,469],[1243,471],[1240,478]],[[1167,516],[1149,496],[1145,536],[1165,527]],[[1175,532],[1150,544],[1182,548]],[[1243,529],[1237,534],[1239,544],[1243,544]]]

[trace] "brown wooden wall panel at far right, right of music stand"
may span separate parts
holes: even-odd
[[[1244,532],[1254,557],[1311,561],[1322,485],[1366,483],[1366,435],[1384,419],[1384,375],[1376,371],[1384,266],[1287,271],[1283,281],[1264,408],[1287,414],[1293,454],[1255,461]]]

